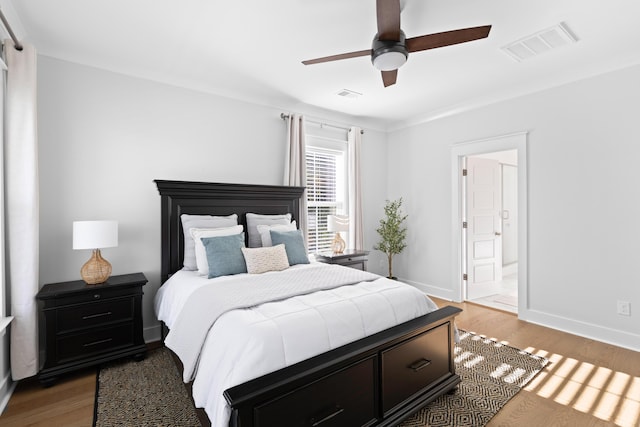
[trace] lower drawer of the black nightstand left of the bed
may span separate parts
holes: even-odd
[[[57,340],[57,363],[133,345],[133,323],[68,335]]]

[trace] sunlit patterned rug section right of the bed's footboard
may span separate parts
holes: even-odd
[[[459,332],[455,363],[462,381],[458,388],[400,427],[484,426],[549,362],[486,337]]]

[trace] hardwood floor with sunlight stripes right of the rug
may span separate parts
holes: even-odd
[[[459,328],[551,361],[489,426],[640,426],[640,353],[472,303],[448,304],[463,309]]]

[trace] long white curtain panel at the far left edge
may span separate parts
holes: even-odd
[[[11,293],[11,376],[38,372],[38,147],[36,127],[36,51],[5,40],[5,279]]]

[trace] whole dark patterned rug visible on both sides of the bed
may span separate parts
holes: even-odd
[[[460,330],[455,347],[455,392],[439,397],[400,427],[486,425],[547,359]],[[160,348],[141,362],[103,367],[98,374],[94,426],[200,426],[169,351]]]

